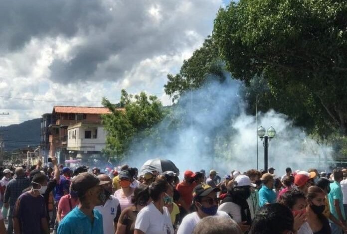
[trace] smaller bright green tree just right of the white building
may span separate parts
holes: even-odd
[[[119,104],[111,104],[106,98],[103,98],[102,104],[111,111],[111,114],[102,117],[108,133],[104,153],[116,161],[124,160],[131,153],[131,145],[137,139],[155,135],[153,126],[165,116],[158,98],[147,96],[144,92],[133,96],[122,90]]]

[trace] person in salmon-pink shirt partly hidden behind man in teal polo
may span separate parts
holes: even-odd
[[[70,187],[70,194],[62,196],[59,200],[58,210],[57,210],[57,223],[79,204],[79,199],[77,193],[74,192]],[[58,228],[58,227],[56,227]]]

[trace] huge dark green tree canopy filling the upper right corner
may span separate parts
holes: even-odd
[[[321,134],[347,134],[345,0],[232,2],[219,10],[213,39],[233,77],[264,76],[275,96],[303,102]]]

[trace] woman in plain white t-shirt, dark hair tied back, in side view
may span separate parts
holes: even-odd
[[[152,202],[137,215],[134,234],[174,234],[170,212],[165,207],[172,199],[166,193],[169,186],[166,180],[159,180],[148,187]]]

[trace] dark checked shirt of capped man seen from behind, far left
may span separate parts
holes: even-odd
[[[30,180],[24,176],[10,180],[5,190],[3,202],[8,202],[10,206],[14,206],[22,191],[30,186]]]

